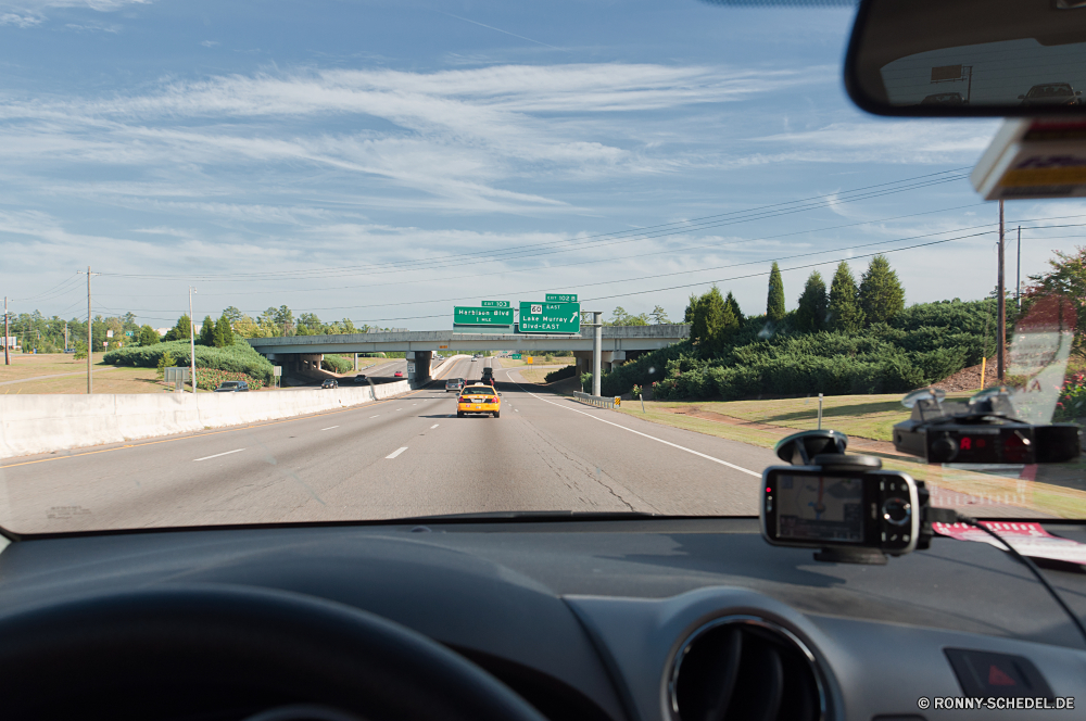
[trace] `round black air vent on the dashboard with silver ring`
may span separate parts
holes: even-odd
[[[818,721],[825,696],[815,657],[787,630],[755,616],[715,619],[687,638],[672,667],[679,721]]]

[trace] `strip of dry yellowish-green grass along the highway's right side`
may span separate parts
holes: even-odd
[[[968,396],[969,393],[956,395]],[[892,412],[891,408],[887,407],[891,403],[888,399],[893,399],[893,402],[896,403],[897,407],[904,413],[897,410]],[[886,422],[893,425],[894,422],[897,422],[897,420],[902,420],[908,417],[908,410],[900,405],[899,395],[834,396],[832,400],[836,401],[834,404],[834,409],[836,410],[834,421],[832,423],[823,423],[823,427],[834,428],[835,430],[839,430],[847,435],[855,434],[856,437],[861,437],[861,433],[851,429],[868,429],[868,431],[871,432],[870,429],[872,428],[877,429],[881,425]],[[823,418],[826,418],[829,415],[825,413],[828,405],[825,403],[826,401],[831,401],[831,399],[828,397],[823,401]],[[815,404],[815,413],[817,414],[818,399],[813,399],[812,403]],[[762,404],[763,407],[767,407],[765,415],[755,410],[755,404]],[[795,408],[795,405],[797,404],[805,410],[798,410]],[[748,443],[763,448],[772,448],[782,438],[790,435],[797,430],[809,430],[817,427],[817,418],[812,421],[808,421],[806,418],[806,415],[810,412],[806,412],[804,399],[793,399],[788,401],[698,403],[696,405],[702,410],[719,413],[733,418],[744,418],[745,420],[749,419],[759,423],[779,426],[780,430],[754,428],[743,425],[733,426],[718,420],[708,420],[696,416],[675,414],[669,410],[670,408],[690,408],[692,407],[692,404],[690,403],[646,401],[645,412],[642,413],[640,401],[623,401],[622,407],[619,408],[618,412],[652,422],[671,426],[673,428],[682,428],[697,433],[705,433],[706,435],[715,435],[729,441]],[[734,406],[736,405],[745,407],[741,407],[738,410],[735,410]],[[721,406],[731,407],[727,410],[722,410],[720,409]],[[883,414],[889,413],[897,414],[897,420],[891,421],[886,418],[880,417]],[[779,416],[784,417],[780,418]],[[872,418],[872,416],[874,416],[874,418]],[[774,419],[776,422],[774,422]],[[785,421],[792,425],[785,425]],[[864,435],[863,438],[871,438],[871,435]],[[888,441],[889,435],[887,433],[883,439],[876,440]],[[863,451],[862,453],[871,452]],[[1040,481],[1022,481],[1019,479],[996,476],[994,473],[929,465],[919,458],[912,459],[909,457],[887,456],[877,452],[871,453],[871,455],[882,457],[883,468],[909,473],[917,480],[924,481],[929,485],[935,488],[976,496],[978,498],[989,501],[993,504],[1016,506],[1020,508],[1049,514],[1056,517],[1086,518],[1086,491],[1070,489],[1062,485],[1053,485],[1051,483],[1044,483]],[[971,513],[982,517],[985,515],[983,506]]]

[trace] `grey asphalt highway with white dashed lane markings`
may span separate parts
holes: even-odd
[[[478,379],[489,360],[439,369]],[[750,515],[765,448],[534,392],[495,372],[501,418],[444,383],[288,420],[11,458],[16,532],[388,519],[509,510]],[[328,391],[333,393],[336,391]]]

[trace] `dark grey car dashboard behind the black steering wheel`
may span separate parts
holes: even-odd
[[[1046,528],[1086,541],[1082,526]],[[1046,573],[1086,616],[1086,575]],[[985,696],[1074,697],[1086,679],[1070,620],[993,546],[936,537],[885,566],[825,564],[769,546],[749,518],[27,536],[0,554],[0,616],[207,584],[376,614],[473,661],[555,721],[712,718],[704,697],[721,684],[733,696],[721,718],[1030,718],[936,699],[980,693],[965,678],[970,659],[998,669],[973,679],[988,683]],[[782,688],[784,705],[767,707]],[[1086,698],[1077,703],[1045,718],[1086,718]]]

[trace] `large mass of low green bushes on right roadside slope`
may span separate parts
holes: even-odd
[[[905,393],[951,376],[993,352],[995,301],[913,305],[862,330],[773,331],[748,318],[709,354],[683,341],[646,353],[602,379],[604,395],[652,385],[660,400]],[[987,330],[987,336],[986,336]]]

